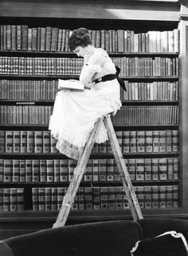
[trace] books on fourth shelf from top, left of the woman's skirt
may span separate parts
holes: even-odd
[[[53,106],[2,105],[0,124],[48,125]]]

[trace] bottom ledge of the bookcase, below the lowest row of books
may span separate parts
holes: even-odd
[[[161,213],[162,212],[162,213]],[[160,216],[159,216],[159,213]],[[178,214],[177,214],[178,213]],[[22,212],[2,213],[1,222],[54,222],[58,211],[32,211],[24,210]],[[32,217],[31,217],[32,215]],[[143,210],[144,218],[187,218],[187,213],[182,213],[182,208],[155,210]],[[132,219],[130,210],[72,210],[69,215],[69,222],[87,222],[87,221],[107,221],[118,219]]]

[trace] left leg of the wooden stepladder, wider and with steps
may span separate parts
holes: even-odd
[[[71,182],[69,183],[69,188],[67,190],[67,193],[65,194],[65,197],[61,205],[61,209],[57,216],[56,222],[53,224],[53,227],[65,226],[65,222],[69,216],[69,212],[74,202],[76,192],[78,190],[78,187],[80,186],[81,179],[84,175],[85,167],[87,166],[87,163],[88,163],[88,158],[92,153],[92,148],[96,141],[96,136],[99,133],[100,126],[102,125],[103,120],[104,120],[104,117],[96,121],[94,129],[92,130],[88,138],[88,142],[86,142],[86,145],[84,146],[83,153],[81,154],[77,162],[77,166],[74,170],[74,174],[72,176]]]

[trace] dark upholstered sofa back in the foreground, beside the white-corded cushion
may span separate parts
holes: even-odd
[[[184,234],[188,241],[186,220],[96,222],[5,239],[0,242],[0,256],[130,256],[135,242],[170,230]]]

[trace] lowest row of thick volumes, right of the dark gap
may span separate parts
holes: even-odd
[[[177,208],[178,185],[135,186],[140,208]],[[33,187],[33,210],[59,210],[67,188]],[[122,187],[80,187],[72,210],[123,210],[129,209]]]

